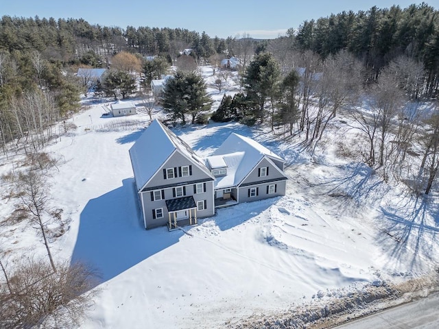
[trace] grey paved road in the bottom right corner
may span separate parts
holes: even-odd
[[[438,329],[439,294],[336,327],[337,329]]]

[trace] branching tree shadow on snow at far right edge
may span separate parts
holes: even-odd
[[[410,270],[423,270],[425,259],[436,254],[439,243],[439,205],[423,195],[406,195],[396,204],[381,207],[379,219],[377,241],[390,259],[408,260]]]

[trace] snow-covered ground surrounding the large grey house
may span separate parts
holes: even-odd
[[[211,93],[218,103],[224,92]],[[239,123],[174,132],[200,156],[230,132],[254,138],[287,160],[287,195],[220,209],[188,234],[144,230],[128,149],[147,115],[102,117],[101,103],[91,97],[84,103],[88,110],[71,119],[78,128],[45,149],[58,159],[49,183],[69,222],[67,232],[51,239],[54,258],[83,260],[102,274],[81,328],[222,328],[423,276],[438,265],[436,195],[416,198],[365,164],[337,158],[340,136],[311,158],[298,143]],[[342,128],[339,121],[331,127]],[[0,173],[22,160],[2,155]],[[1,217],[14,202],[1,199]],[[23,255],[45,256],[25,222],[0,226],[0,247],[10,266]]]

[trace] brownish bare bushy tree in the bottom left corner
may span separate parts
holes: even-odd
[[[26,260],[0,282],[1,328],[72,328],[97,293],[97,273],[83,264]],[[6,273],[6,272],[5,272]]]

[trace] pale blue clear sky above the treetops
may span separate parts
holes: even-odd
[[[439,0],[424,1],[436,10]],[[253,38],[276,38],[303,21],[342,11],[390,8],[420,4],[422,1],[392,0],[0,0],[0,16],[54,19],[85,19],[102,26],[171,27],[206,32],[227,38],[249,34]]]

